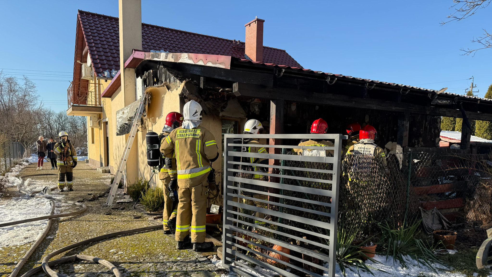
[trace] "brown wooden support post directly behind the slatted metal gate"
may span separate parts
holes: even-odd
[[[271,100],[270,101],[270,134],[283,134],[283,100]],[[282,140],[278,138],[270,138],[269,144],[271,145],[281,145]],[[270,147],[268,152],[270,154],[280,154],[280,148]],[[278,160],[270,159],[269,165],[280,165]],[[274,173],[276,171],[274,168],[270,168],[269,172]],[[279,182],[278,177],[270,177],[271,182]],[[278,189],[268,188],[268,191],[271,193],[278,193]],[[269,201],[278,202],[277,197],[268,197]]]

